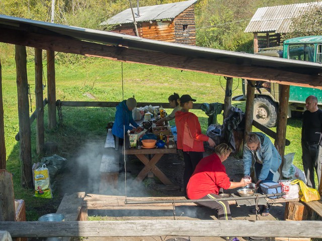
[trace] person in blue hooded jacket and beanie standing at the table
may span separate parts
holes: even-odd
[[[112,134],[115,141],[115,150],[118,151],[120,172],[124,172],[124,161],[122,158],[122,146],[124,135],[127,131],[140,130],[141,128],[134,122],[132,110],[136,107],[136,99],[128,98],[116,106],[115,121],[112,127]],[[133,126],[130,126],[130,124]]]

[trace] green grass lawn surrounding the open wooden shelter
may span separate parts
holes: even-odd
[[[0,49],[9,53],[10,48],[0,45]],[[30,50],[28,53],[31,52]],[[32,52],[31,52],[32,53]],[[16,66],[13,58],[2,58],[2,88],[4,100],[5,137],[7,151],[7,169],[14,173],[15,198],[24,199],[27,207],[27,220],[37,220],[43,206],[51,205],[53,210],[59,204],[59,197],[54,199],[33,197],[32,190],[20,187],[19,142],[15,135],[19,131]],[[45,59],[45,58],[44,58]],[[28,55],[28,82],[35,109],[35,75],[33,56]],[[46,73],[46,62],[43,62]],[[123,69],[123,73],[122,73]],[[44,85],[46,76],[44,76]],[[135,95],[139,102],[167,102],[173,92],[190,94],[197,103],[221,102],[224,100],[225,79],[223,77],[177,69],[121,63],[99,58],[86,58],[74,64],[56,64],[56,99],[74,101],[121,101]],[[123,91],[124,92],[123,92]],[[241,94],[241,80],[234,79],[232,95]],[[47,95],[46,88],[44,96]],[[94,97],[92,97],[94,96]],[[245,110],[245,102],[233,102]],[[106,124],[114,121],[115,108],[63,107],[63,126],[55,130],[47,129],[47,108],[45,108],[45,141],[58,143],[62,157],[74,155],[77,147],[89,140],[101,140],[104,145]],[[168,113],[170,110],[168,110]],[[193,110],[205,133],[208,116],[201,110]],[[222,124],[222,114],[218,115]],[[254,131],[258,131],[255,128]],[[276,129],[274,129],[276,131]],[[300,147],[301,119],[288,119],[287,139],[291,145],[285,153],[295,152],[294,164],[302,168]],[[32,160],[40,161],[42,156],[36,154],[35,123],[32,125]],[[44,214],[44,213],[43,213]],[[41,214],[42,215],[42,214]]]

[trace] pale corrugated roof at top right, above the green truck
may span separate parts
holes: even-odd
[[[322,6],[322,2],[292,4],[257,9],[245,33],[288,33],[292,18],[302,15],[310,8]]]

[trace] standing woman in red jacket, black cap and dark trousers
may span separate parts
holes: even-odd
[[[197,164],[203,158],[203,142],[208,142],[213,147],[215,142],[201,134],[201,127],[197,115],[189,112],[193,107],[193,101],[189,94],[180,97],[182,110],[176,112],[177,126],[177,148],[183,150],[185,161],[185,172],[183,176],[184,192],[186,193],[189,178],[194,172]]]

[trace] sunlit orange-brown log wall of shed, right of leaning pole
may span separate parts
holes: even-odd
[[[173,21],[153,21],[142,23],[142,38],[175,43],[175,25]]]

